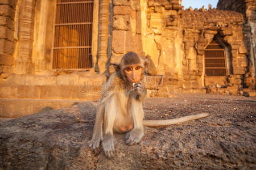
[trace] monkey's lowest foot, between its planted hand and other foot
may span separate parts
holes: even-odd
[[[110,134],[106,134],[104,139],[103,139],[103,142],[101,143],[101,146],[104,150],[104,153],[105,155],[108,157],[108,158],[112,158],[113,155],[114,155],[114,152],[115,152],[115,138],[113,135],[110,135]]]

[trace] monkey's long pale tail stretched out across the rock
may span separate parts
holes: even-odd
[[[167,119],[167,120],[143,120],[143,126],[166,126],[179,124],[181,122],[199,119],[201,117],[208,116],[208,113],[195,114],[191,116],[184,116],[179,118]]]

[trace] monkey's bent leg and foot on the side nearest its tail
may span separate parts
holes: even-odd
[[[143,117],[144,112],[142,108],[141,101],[136,100],[134,97],[129,98],[128,102],[128,112],[133,118],[133,130],[129,131],[126,135],[126,144],[133,145],[134,143],[138,143],[144,135],[143,130]]]

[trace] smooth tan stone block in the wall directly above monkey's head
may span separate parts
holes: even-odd
[[[117,54],[125,53],[125,35],[126,31],[113,31],[112,49]]]

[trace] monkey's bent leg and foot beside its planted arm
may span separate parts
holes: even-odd
[[[115,138],[113,135],[113,127],[115,122],[115,117],[117,116],[119,109],[119,97],[117,95],[112,95],[105,105],[104,114],[104,137],[101,143],[105,155],[108,158],[112,158],[115,148]]]

